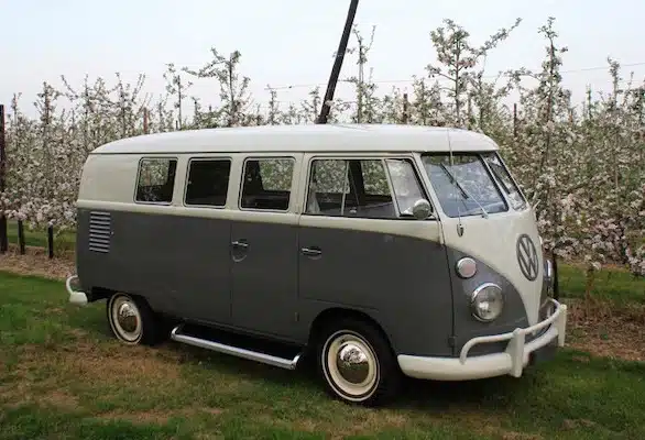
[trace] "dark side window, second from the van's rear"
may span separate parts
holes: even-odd
[[[186,205],[223,207],[229,189],[230,160],[192,160],[186,183]]]

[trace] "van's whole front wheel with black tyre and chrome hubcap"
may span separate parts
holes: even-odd
[[[401,370],[390,343],[369,322],[354,318],[330,322],[316,353],[325,388],[335,398],[376,406],[398,391]]]

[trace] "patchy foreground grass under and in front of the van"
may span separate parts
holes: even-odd
[[[1,439],[638,439],[645,364],[566,349],[520,378],[408,381],[387,408],[329,399],[310,372],[174,342],[117,343],[105,302],[0,272]]]

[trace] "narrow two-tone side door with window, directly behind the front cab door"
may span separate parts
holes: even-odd
[[[248,158],[231,226],[232,324],[289,338],[297,299],[293,157]]]

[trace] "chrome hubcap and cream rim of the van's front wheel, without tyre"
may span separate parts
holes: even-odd
[[[359,336],[342,331],[328,339],[325,353],[325,374],[334,388],[349,400],[369,398],[379,381],[371,346]]]

